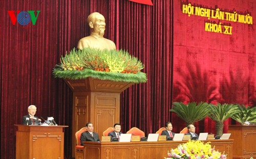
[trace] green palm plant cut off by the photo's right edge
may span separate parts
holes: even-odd
[[[239,122],[241,125],[246,125],[248,123],[256,123],[256,107],[251,108],[248,106],[247,108],[245,105],[236,105],[239,112],[237,114],[233,114],[231,116],[232,119]]]

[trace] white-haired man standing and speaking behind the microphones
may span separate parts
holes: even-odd
[[[35,105],[29,105],[28,107],[28,115],[23,116],[22,118],[22,124],[23,125],[38,125],[41,121],[41,119],[38,119],[35,115],[36,113],[36,107]]]

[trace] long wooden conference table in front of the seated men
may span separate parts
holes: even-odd
[[[84,157],[86,159],[144,159],[168,157],[167,152],[177,148],[179,144],[187,141],[136,141],[136,142],[84,142]],[[216,150],[227,154],[232,158],[233,139],[229,140],[205,140],[211,142]]]

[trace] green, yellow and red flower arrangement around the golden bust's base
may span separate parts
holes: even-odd
[[[78,80],[87,77],[116,82],[145,83],[144,65],[124,50],[100,50],[97,48],[72,49],[53,74],[59,78]]]

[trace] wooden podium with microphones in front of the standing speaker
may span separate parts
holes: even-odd
[[[64,158],[64,130],[68,126],[18,125],[16,159]]]

